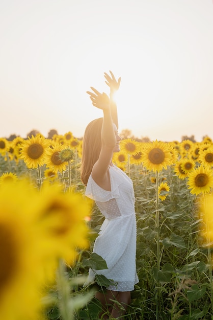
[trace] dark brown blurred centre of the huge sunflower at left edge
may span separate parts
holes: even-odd
[[[0,294],[1,289],[8,285],[17,267],[16,248],[13,235],[9,228],[0,224]]]

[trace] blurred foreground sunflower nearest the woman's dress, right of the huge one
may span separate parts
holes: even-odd
[[[73,264],[77,250],[88,247],[85,219],[91,214],[91,204],[81,193],[64,193],[57,184],[44,185],[34,210],[39,213],[35,225],[45,239],[45,259],[59,257]]]

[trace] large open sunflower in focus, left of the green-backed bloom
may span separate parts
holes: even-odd
[[[43,136],[32,135],[32,138],[28,138],[21,144],[20,158],[30,169],[42,166],[48,146],[49,142]]]

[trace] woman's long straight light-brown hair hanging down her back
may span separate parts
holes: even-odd
[[[85,185],[87,185],[92,168],[100,155],[102,123],[103,118],[95,119],[85,129],[81,166],[81,179]]]

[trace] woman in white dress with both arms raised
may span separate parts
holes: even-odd
[[[104,73],[110,87],[110,99],[91,87],[92,104],[102,109],[103,118],[90,122],[85,130],[82,155],[82,181],[86,196],[95,200],[105,220],[95,240],[93,252],[101,256],[108,269],[89,270],[89,281],[95,274],[112,279],[106,293],[98,292],[103,312],[111,317],[125,314],[130,304],[130,291],[138,282],[136,273],[136,218],[135,196],[130,178],[112,163],[113,152],[119,152],[117,106],[113,94],[120,86],[113,73]],[[114,305],[112,305],[114,301]],[[111,307],[109,305],[111,304]],[[108,308],[107,308],[108,307]],[[106,315],[107,316],[107,313]],[[108,318],[108,317],[107,317]]]

